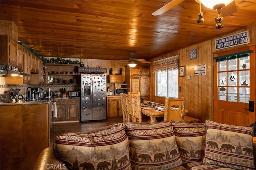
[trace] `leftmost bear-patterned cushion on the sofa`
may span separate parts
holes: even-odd
[[[59,135],[53,150],[69,169],[130,170],[130,149],[124,129],[123,123],[115,123],[93,131]]]

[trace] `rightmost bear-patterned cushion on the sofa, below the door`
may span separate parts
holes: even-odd
[[[206,128],[205,164],[254,170],[253,127],[206,120]]]

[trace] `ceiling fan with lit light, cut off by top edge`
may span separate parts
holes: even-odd
[[[164,14],[171,8],[179,5],[184,0],[172,0],[168,4],[164,5],[163,7],[159,8],[155,12],[152,13],[153,16],[159,16],[161,14]],[[202,3],[207,8],[216,9],[218,14],[222,14],[222,17],[230,16],[234,14],[236,9],[236,3],[234,0],[195,0],[197,3]],[[211,5],[208,6],[207,2],[210,2]]]

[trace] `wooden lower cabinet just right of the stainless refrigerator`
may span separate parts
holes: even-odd
[[[108,96],[107,99],[108,118],[123,117],[120,96]]]

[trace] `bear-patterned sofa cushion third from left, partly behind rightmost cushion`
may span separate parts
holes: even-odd
[[[205,123],[173,121],[172,126],[182,161],[201,161],[205,147]]]

